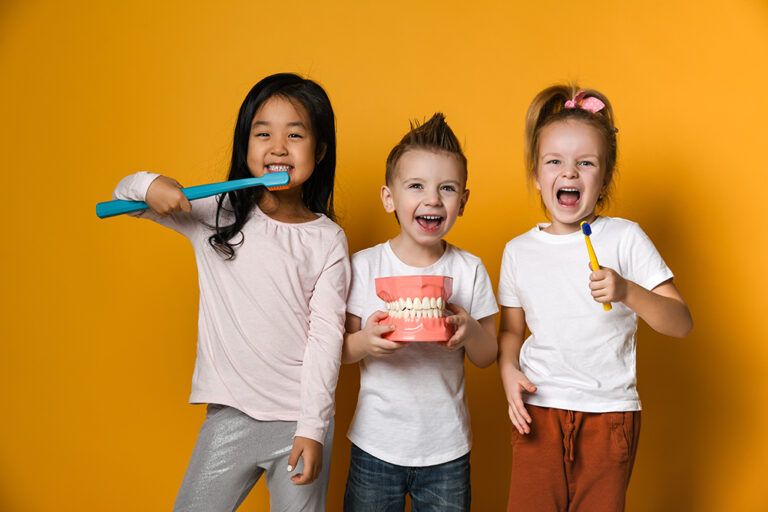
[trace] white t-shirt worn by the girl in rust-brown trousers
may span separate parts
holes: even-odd
[[[637,411],[637,315],[624,304],[609,312],[589,289],[589,256],[581,231],[553,235],[539,225],[507,243],[499,303],[521,307],[531,335],[520,368],[538,390],[525,402],[583,412]],[[672,278],[636,223],[598,217],[592,245],[603,267],[651,290]]]

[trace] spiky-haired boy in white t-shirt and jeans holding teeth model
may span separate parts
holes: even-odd
[[[464,354],[493,363],[498,308],[482,262],[443,240],[464,211],[466,182],[441,114],[412,127],[387,159],[381,198],[400,233],[352,258],[343,361],[359,361],[360,395],[347,512],[404,510],[407,495],[414,510],[469,510]]]

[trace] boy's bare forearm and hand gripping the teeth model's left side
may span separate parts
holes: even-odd
[[[385,312],[376,311],[368,317],[368,321],[365,322],[365,329],[361,329],[360,317],[347,313],[341,362],[344,364],[356,363],[368,356],[386,356],[403,348],[404,343],[389,341],[381,337],[383,334],[394,330],[394,326],[379,323],[386,318],[388,315]]]

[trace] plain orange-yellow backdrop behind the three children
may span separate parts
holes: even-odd
[[[494,285],[503,244],[542,219],[523,117],[577,80],[614,104],[609,211],[650,234],[692,335],[642,326],[645,411],[630,511],[768,507],[768,4],[732,2],[0,3],[0,510],[169,510],[202,407],[186,404],[197,281],[187,242],[97,220],[120,177],[224,178],[237,109],[265,75],[328,90],[353,251],[396,225],[378,202],[409,118],[443,111],[470,164],[449,239]],[[495,368],[468,370],[473,510],[503,510],[509,425]],[[357,370],[338,389],[340,510]],[[259,483],[243,510],[266,510]]]

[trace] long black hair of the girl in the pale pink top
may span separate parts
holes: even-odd
[[[278,96],[299,102],[307,111],[311,129],[315,136],[318,156],[325,151],[322,160],[315,165],[315,170],[301,186],[301,197],[306,207],[315,213],[322,213],[332,220],[333,183],[336,174],[336,122],[333,107],[328,95],[317,83],[292,73],[271,75],[253,86],[240,105],[232,140],[232,163],[229,167],[228,180],[250,178],[248,169],[248,141],[251,136],[253,116],[268,99]],[[235,249],[244,241],[242,229],[251,215],[253,207],[263,194],[262,187],[247,188],[228,192],[218,197],[216,221],[212,229],[216,231],[208,242],[227,259],[235,257]],[[222,214],[234,216],[234,222],[221,225]],[[240,235],[239,240],[232,239]]]

